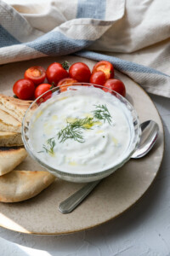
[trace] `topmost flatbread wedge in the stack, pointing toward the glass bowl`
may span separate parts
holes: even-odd
[[[30,107],[31,102],[0,94],[0,109],[9,113],[20,122],[22,122],[26,109]]]

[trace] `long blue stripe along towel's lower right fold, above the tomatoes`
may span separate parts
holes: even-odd
[[[124,71],[133,73],[156,73],[158,75],[169,77],[167,74],[161,73],[160,71],[153,69],[151,67],[144,67],[143,65],[134,63],[132,61],[121,60],[113,56],[102,55],[99,53],[95,53],[93,51],[82,50],[75,53],[75,55],[92,59],[94,61],[110,61],[117,70],[122,72]]]

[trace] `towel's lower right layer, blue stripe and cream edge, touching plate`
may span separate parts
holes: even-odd
[[[156,69],[88,50],[78,51],[75,55],[95,61],[110,61],[117,70],[127,74],[128,77],[143,86],[148,92],[170,97],[170,76]]]

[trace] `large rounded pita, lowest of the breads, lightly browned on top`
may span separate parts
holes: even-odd
[[[13,171],[0,177],[0,201],[25,201],[54,182],[54,175],[42,171]]]

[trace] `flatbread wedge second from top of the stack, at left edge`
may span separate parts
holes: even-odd
[[[13,116],[0,109],[0,131],[21,132],[21,123]]]

